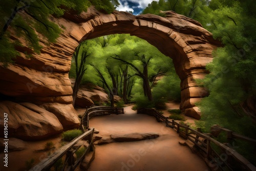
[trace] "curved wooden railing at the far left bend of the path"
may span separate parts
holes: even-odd
[[[100,115],[111,115],[111,114],[124,114],[123,108],[113,108],[108,106],[95,106],[93,108],[88,108],[86,112],[84,112],[83,116],[81,117],[81,130],[88,130],[89,128],[89,120],[94,116]]]

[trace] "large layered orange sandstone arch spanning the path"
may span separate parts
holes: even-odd
[[[39,36],[43,48],[40,54],[36,54],[26,46],[25,40],[20,39],[23,47],[17,47],[20,56],[15,63],[7,68],[0,64],[0,94],[44,106],[60,118],[71,117],[67,122],[60,119],[65,128],[76,125],[78,120],[74,119],[75,112],[61,109],[66,108],[65,104],[68,104],[69,110],[72,108],[69,105],[72,103],[72,88],[68,73],[75,48],[89,38],[130,33],[147,40],[173,59],[181,79],[180,108],[186,115],[200,118],[200,112],[194,109],[195,102],[208,95],[208,92],[198,87],[195,79],[207,74],[205,66],[212,60],[211,52],[219,46],[219,42],[196,20],[173,11],[166,11],[165,14],[166,17],[152,14],[134,16],[119,11],[103,14],[90,7],[80,15],[66,13],[62,18],[52,18],[60,28],[65,28],[57,42],[49,45]],[[8,31],[11,33],[11,30]],[[25,51],[32,52],[33,57],[26,58]],[[95,95],[93,98],[99,97]],[[62,107],[54,108],[49,103],[59,103]],[[18,117],[19,114],[16,115]]]

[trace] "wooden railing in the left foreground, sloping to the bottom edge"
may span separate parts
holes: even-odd
[[[93,132],[94,132],[94,129],[91,129],[91,130],[87,131],[86,133],[83,133],[82,135],[80,135],[76,139],[72,140],[70,143],[68,143],[68,144],[62,146],[61,148],[59,148],[58,151],[56,151],[54,154],[45,158],[40,163],[35,165],[33,168],[30,169],[30,171],[32,171],[32,170],[36,170],[36,171],[52,170],[55,163],[58,162],[59,160],[62,160],[62,158],[65,157],[65,155],[66,155],[65,161],[63,162],[63,165],[61,166],[60,170],[75,170],[75,168],[86,157],[86,155],[89,152],[93,152],[95,150],[94,145],[93,145],[93,141],[92,141]],[[86,138],[88,139],[89,146],[87,147],[87,149],[83,153],[83,155],[81,157],[79,157],[78,159],[76,159],[74,157],[74,153],[82,145],[75,146],[75,144],[79,140],[86,139]],[[74,146],[75,146],[75,148],[74,148]]]

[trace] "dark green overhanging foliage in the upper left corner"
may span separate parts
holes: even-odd
[[[53,23],[51,16],[60,17],[66,11],[79,14],[86,11],[90,5],[95,5],[96,9],[111,13],[118,6],[117,0],[3,0],[0,3],[0,62],[5,64],[12,62],[19,53],[15,51],[16,38],[13,38],[8,30],[11,28],[15,36],[22,37],[26,44],[35,53],[40,53],[42,48],[39,45],[38,33],[46,42],[55,42],[61,33],[62,26]],[[33,52],[25,52],[27,57]]]

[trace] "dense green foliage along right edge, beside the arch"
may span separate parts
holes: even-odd
[[[256,13],[252,1],[211,1],[209,30],[225,45],[214,53],[210,71],[201,83],[210,91],[198,105],[206,131],[219,124],[234,132],[256,138],[256,126],[243,108],[256,95]]]

